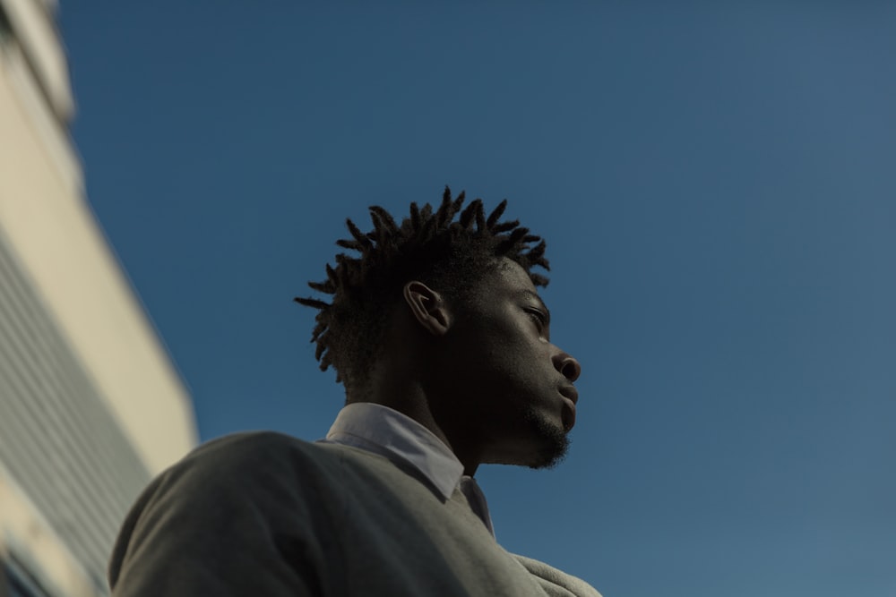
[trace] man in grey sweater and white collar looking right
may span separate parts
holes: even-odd
[[[472,479],[564,456],[580,366],[530,272],[545,243],[499,222],[506,201],[462,203],[445,189],[401,225],[377,206],[370,233],[347,221],[337,244],[359,256],[309,284],[332,302],[296,299],[319,310],[316,357],[347,405],[319,442],[237,434],[163,473],[119,535],[116,597],[599,597],[502,549]]]

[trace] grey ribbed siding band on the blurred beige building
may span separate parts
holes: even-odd
[[[0,237],[0,461],[98,584],[150,474]]]

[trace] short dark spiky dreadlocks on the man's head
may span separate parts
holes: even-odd
[[[378,205],[369,208],[374,229],[368,233],[346,219],[351,238],[336,244],[360,256],[340,253],[335,268],[326,265],[323,282],[308,282],[312,289],[332,294],[332,303],[294,299],[318,310],[311,341],[317,343],[314,357],[321,371],[332,366],[336,381],[347,389],[363,383],[382,342],[388,312],[410,280],[435,286],[446,300],[462,303],[467,291],[494,270],[498,260],[507,258],[520,264],[535,286],[547,286],[547,277],[530,271],[533,266],[550,269],[545,242],[530,235],[519,220],[498,221],[507,200],[488,217],[482,200],[473,200],[461,211],[463,201],[464,192],[452,200],[446,186],[438,209],[411,203],[410,216],[401,226]]]

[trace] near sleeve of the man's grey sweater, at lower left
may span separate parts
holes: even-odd
[[[303,486],[289,441],[220,439],[156,479],[113,550],[114,597],[331,594],[334,500]]]

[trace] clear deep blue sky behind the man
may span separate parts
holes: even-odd
[[[477,475],[507,549],[605,597],[896,594],[896,4],[556,4],[62,3],[202,439],[323,436],[292,297],[447,183],[547,238],[582,362],[564,464]]]

